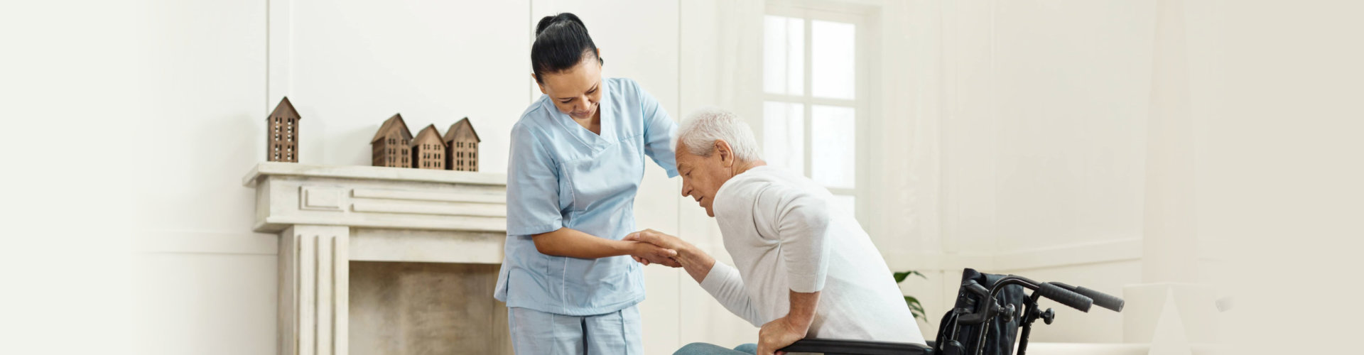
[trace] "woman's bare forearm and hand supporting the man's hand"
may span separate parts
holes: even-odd
[[[652,264],[663,264],[672,268],[679,266],[672,259],[678,254],[675,250],[644,242],[597,238],[567,227],[548,233],[533,235],[531,240],[535,242],[535,248],[546,255],[582,259],[632,255],[648,259]]]

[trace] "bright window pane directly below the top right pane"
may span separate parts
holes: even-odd
[[[810,106],[810,178],[827,187],[857,187],[857,120],[853,108]]]

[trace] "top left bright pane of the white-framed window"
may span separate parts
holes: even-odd
[[[762,30],[762,90],[805,94],[805,20],[764,16]]]

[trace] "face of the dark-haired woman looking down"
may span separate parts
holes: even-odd
[[[596,115],[602,102],[602,61],[596,56],[582,56],[577,66],[543,76],[540,93],[548,96],[559,112],[577,120]]]

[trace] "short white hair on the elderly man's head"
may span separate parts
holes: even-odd
[[[715,153],[715,141],[724,141],[739,161],[762,158],[758,154],[758,139],[753,137],[749,124],[739,115],[719,108],[702,108],[689,115],[678,132],[678,141],[696,156],[709,157]]]

